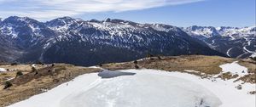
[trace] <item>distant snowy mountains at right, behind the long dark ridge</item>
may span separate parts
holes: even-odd
[[[255,25],[243,28],[194,25],[183,31],[233,58],[247,58],[256,53]]]

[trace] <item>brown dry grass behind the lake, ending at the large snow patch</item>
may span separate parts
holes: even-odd
[[[144,59],[138,61],[140,68],[156,69],[156,70],[168,70],[168,71],[184,71],[184,70],[196,70],[201,73],[209,75],[218,74],[221,71],[219,65],[233,62],[234,59],[227,59],[217,56],[174,56],[174,57],[156,57],[152,59]],[[110,70],[123,70],[134,69],[133,62],[121,63],[121,64],[108,64],[103,65],[103,68]]]

